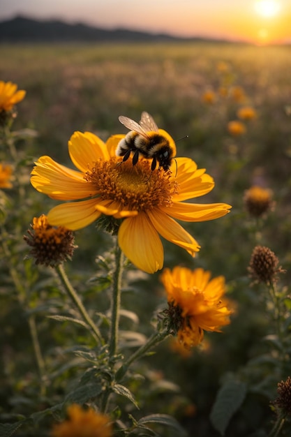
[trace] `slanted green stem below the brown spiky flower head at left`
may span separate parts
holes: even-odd
[[[60,264],[57,267],[55,267],[55,270],[59,276],[59,279],[61,280],[62,285],[64,286],[64,289],[68,293],[70,299],[72,299],[75,306],[77,306],[77,309],[80,311],[80,314],[82,315],[84,321],[89,325],[89,327],[91,327],[91,331],[92,331],[92,335],[94,336],[94,339],[97,341],[97,343],[100,343],[102,341],[102,337],[99,332],[99,329],[98,327],[96,327],[94,321],[87,313],[87,310],[82,304],[80,297],[77,295],[77,292],[74,290],[73,286],[68,280],[68,276],[66,275],[64,266]]]

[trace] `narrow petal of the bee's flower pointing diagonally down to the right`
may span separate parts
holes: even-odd
[[[195,252],[199,251],[199,244],[177,221],[174,221],[158,209],[154,209],[152,212],[149,211],[147,214],[151,219],[151,223],[163,238],[183,247],[192,256],[195,256]]]

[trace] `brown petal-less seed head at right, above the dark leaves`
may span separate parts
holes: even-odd
[[[255,246],[248,266],[248,272],[255,281],[270,285],[278,280],[278,273],[285,273],[282,267],[278,267],[278,263],[278,258],[269,247]]]

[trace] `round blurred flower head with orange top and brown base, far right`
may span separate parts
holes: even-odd
[[[251,186],[244,193],[244,205],[248,214],[253,217],[267,214],[274,206],[271,190],[257,185]]]

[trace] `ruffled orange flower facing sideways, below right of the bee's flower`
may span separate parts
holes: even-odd
[[[221,298],[225,293],[225,279],[210,279],[210,272],[186,267],[164,269],[161,281],[167,292],[167,313],[173,332],[186,348],[197,346],[204,331],[220,331],[230,323],[230,309]]]

